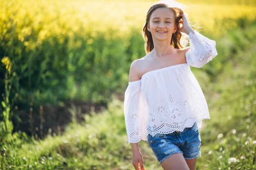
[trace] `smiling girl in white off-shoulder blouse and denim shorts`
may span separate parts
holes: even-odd
[[[190,47],[182,47],[181,32],[189,35]],[[163,3],[150,7],[143,33],[147,54],[132,62],[124,99],[132,164],[144,168],[138,146],[143,139],[164,170],[194,170],[198,126],[209,119],[209,110],[190,66],[211,61],[216,42],[193,30],[181,9]]]

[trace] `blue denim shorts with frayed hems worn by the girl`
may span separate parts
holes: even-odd
[[[196,123],[182,132],[148,135],[148,143],[159,164],[174,153],[182,153],[185,159],[194,159],[200,155],[201,139]]]

